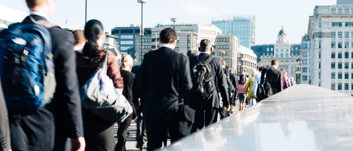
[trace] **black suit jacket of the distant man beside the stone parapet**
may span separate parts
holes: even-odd
[[[277,69],[274,66],[262,69],[261,81],[260,81],[261,84],[263,83],[265,73],[266,73],[266,80],[265,80],[264,88],[265,88],[266,96],[270,97],[278,92],[281,92],[283,89],[282,71]]]

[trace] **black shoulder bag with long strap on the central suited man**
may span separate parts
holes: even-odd
[[[179,59],[179,104],[177,112],[177,123],[175,130],[181,137],[187,136],[191,132],[192,124],[195,120],[195,110],[184,104],[184,72],[183,72],[183,54],[178,54]]]

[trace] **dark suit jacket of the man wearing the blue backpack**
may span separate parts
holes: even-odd
[[[42,16],[31,16],[36,21],[46,20]],[[26,17],[23,23],[33,22]],[[56,134],[65,135],[65,138],[82,137],[81,100],[74,53],[75,38],[72,33],[57,27],[50,28],[48,31],[51,35],[56,89],[52,103],[48,104],[47,108],[54,114]]]

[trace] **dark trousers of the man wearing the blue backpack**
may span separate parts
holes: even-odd
[[[53,150],[54,117],[46,107],[28,115],[11,115],[10,135],[13,150]]]

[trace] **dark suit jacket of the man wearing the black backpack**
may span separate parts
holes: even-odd
[[[206,58],[210,56],[208,53],[200,53],[199,54],[199,61],[204,61]],[[190,59],[190,66],[195,66],[195,64],[198,62],[196,59],[196,56],[192,57]],[[215,86],[214,89],[212,90],[212,96],[209,98],[208,101],[212,101],[212,107],[214,108],[221,108],[219,105],[219,96],[218,96],[218,90],[216,89],[216,86],[218,86],[218,89],[221,93],[222,96],[222,102],[223,105],[229,105],[229,95],[228,95],[228,90],[227,90],[227,82],[224,77],[223,73],[223,67],[222,67],[222,62],[220,58],[214,57],[209,64],[211,65],[212,69],[212,75],[214,80],[212,80],[212,84]],[[217,84],[218,82],[218,84]]]

